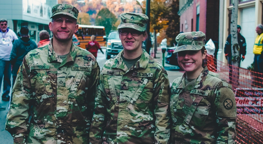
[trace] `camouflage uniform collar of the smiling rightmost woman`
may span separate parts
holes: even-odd
[[[186,74],[184,73],[182,78],[181,78],[181,82],[177,86],[177,88],[183,88],[184,89],[183,91],[202,88],[203,87],[203,83],[204,83],[204,81],[206,79],[206,75],[208,74],[208,72],[209,71],[208,71],[207,67],[205,67],[203,69],[203,71],[200,73],[200,75],[196,78],[196,80],[193,80],[192,82],[190,82],[186,86],[185,86]]]

